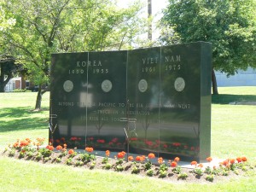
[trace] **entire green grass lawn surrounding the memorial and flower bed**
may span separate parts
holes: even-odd
[[[212,157],[245,155],[256,162],[255,87],[219,88],[212,96]],[[0,151],[16,139],[48,137],[49,93],[43,111],[33,112],[36,93],[0,93]],[[256,173],[219,183],[166,182],[103,170],[45,165],[0,156],[0,191],[256,191]]]

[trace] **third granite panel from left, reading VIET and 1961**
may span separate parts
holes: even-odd
[[[160,48],[131,50],[127,62],[131,153],[159,150]]]

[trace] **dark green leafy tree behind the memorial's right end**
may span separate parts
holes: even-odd
[[[169,3],[162,24],[177,32],[180,42],[212,43],[213,94],[218,94],[213,69],[230,76],[238,69],[256,67],[254,0],[169,0]],[[172,37],[162,39],[167,44],[173,42]]]

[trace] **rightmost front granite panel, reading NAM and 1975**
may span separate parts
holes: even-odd
[[[160,154],[199,160],[201,44],[162,48],[160,74]],[[208,74],[210,74],[208,72]],[[210,77],[208,77],[210,78]],[[210,107],[210,105],[209,105]]]

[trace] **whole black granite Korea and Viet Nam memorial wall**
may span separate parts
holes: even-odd
[[[211,151],[212,45],[52,55],[49,140],[203,161]]]

